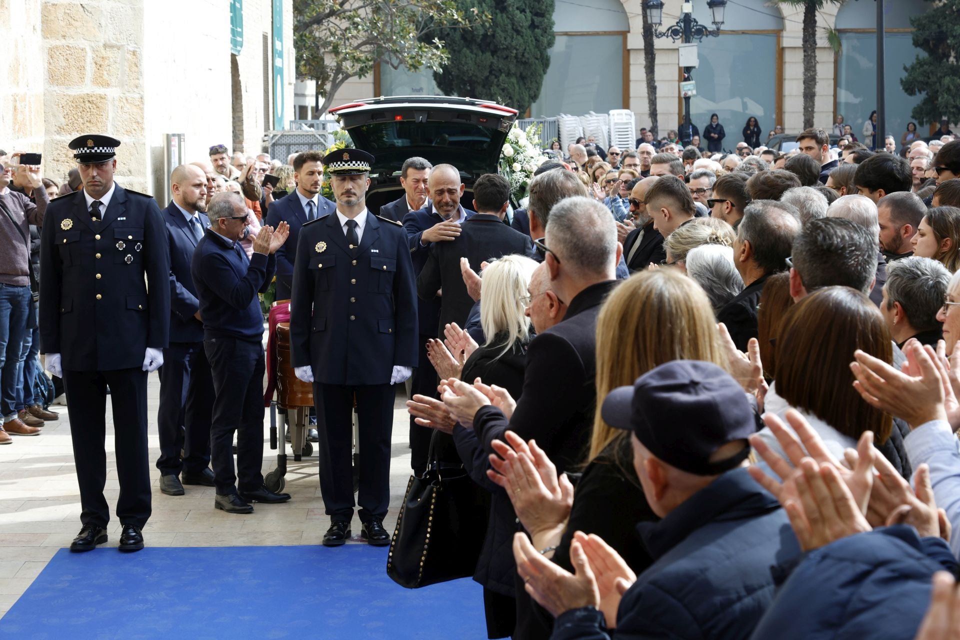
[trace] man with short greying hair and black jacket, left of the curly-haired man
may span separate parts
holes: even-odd
[[[756,338],[756,305],[763,284],[773,273],[786,270],[793,240],[800,232],[799,212],[792,204],[772,200],[753,201],[733,241],[733,264],[743,278],[744,289],[718,313],[717,321],[741,351]]]

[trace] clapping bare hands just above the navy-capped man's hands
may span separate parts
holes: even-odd
[[[555,545],[573,505],[573,485],[566,474],[558,478],[557,467],[534,440],[528,445],[513,431],[504,438],[507,442],[491,442],[496,455],[490,456],[487,477],[507,491],[516,517],[537,545]]]

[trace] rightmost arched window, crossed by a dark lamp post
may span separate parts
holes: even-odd
[[[887,2],[883,36],[884,78],[886,84],[887,130],[897,141],[911,121],[910,111],[923,96],[908,96],[900,86],[903,66],[923,52],[913,46],[913,28],[909,16],[924,13],[929,3],[924,0]],[[836,113],[863,142],[863,126],[876,108],[876,5],[873,2],[848,2],[837,12],[836,29],[843,49],[837,57]],[[918,127],[920,131],[921,128]],[[924,129],[925,131],[925,129]],[[924,135],[924,131],[920,131]],[[883,144],[883,131],[877,131]]]

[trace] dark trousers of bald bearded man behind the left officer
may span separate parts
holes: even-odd
[[[199,474],[210,463],[214,397],[204,343],[171,343],[163,349],[163,367],[156,372],[160,376],[156,412],[160,457],[156,468],[162,475]]]

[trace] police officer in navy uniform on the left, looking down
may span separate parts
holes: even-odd
[[[107,542],[108,389],[121,551],[143,549],[151,512],[147,375],[167,346],[170,256],[156,201],[113,181],[119,145],[107,135],[70,142],[84,189],[51,201],[43,224],[40,344],[66,389],[83,507],[71,551]]]

